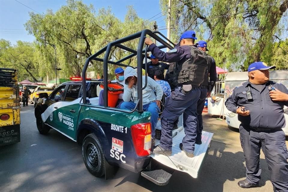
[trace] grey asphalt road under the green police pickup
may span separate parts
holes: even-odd
[[[195,191],[269,192],[273,191],[269,171],[261,154],[262,179],[259,188],[242,189],[245,163],[239,133],[226,123],[204,116],[204,130],[214,137],[197,179],[176,171],[170,183],[157,186],[140,176],[119,169],[113,179],[96,178],[82,160],[81,147],[55,130],[38,133],[34,108],[21,108],[21,142],[0,147],[0,191],[10,192],[99,192],[99,191]],[[288,144],[288,142],[286,141]]]

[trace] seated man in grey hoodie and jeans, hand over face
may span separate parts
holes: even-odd
[[[125,86],[123,93],[124,102],[121,109],[133,110],[138,100],[137,94],[137,73],[132,67],[127,67],[124,71]],[[161,86],[149,76],[147,77],[147,86],[143,89],[143,110],[151,113],[152,138],[155,138],[155,126],[160,112],[160,101],[163,96]],[[145,85],[145,76],[142,76],[142,86]],[[155,92],[154,92],[155,91]],[[156,93],[156,95],[155,95]]]

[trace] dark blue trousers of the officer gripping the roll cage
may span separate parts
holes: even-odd
[[[200,88],[193,88],[184,93],[181,86],[178,86],[165,102],[165,108],[161,116],[161,139],[160,146],[166,150],[172,150],[172,130],[174,122],[183,113],[185,122],[184,131],[186,136],[182,140],[183,148],[189,153],[195,149],[197,129],[197,101],[200,96]]]

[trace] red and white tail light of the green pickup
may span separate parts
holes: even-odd
[[[150,155],[151,123],[132,125],[131,134],[136,154],[140,157]]]

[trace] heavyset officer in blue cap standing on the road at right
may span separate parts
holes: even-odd
[[[287,88],[269,81],[268,69],[263,62],[248,67],[249,80],[233,90],[226,100],[228,110],[238,113],[240,141],[246,164],[246,179],[238,182],[242,188],[258,187],[261,175],[260,148],[265,155],[274,191],[288,191],[288,152],[283,113],[287,100],[277,99],[277,92],[288,94]],[[276,94],[273,92],[276,91]],[[270,95],[269,95],[270,94]],[[276,96],[275,96],[276,95]],[[287,122],[288,123],[288,122]]]

